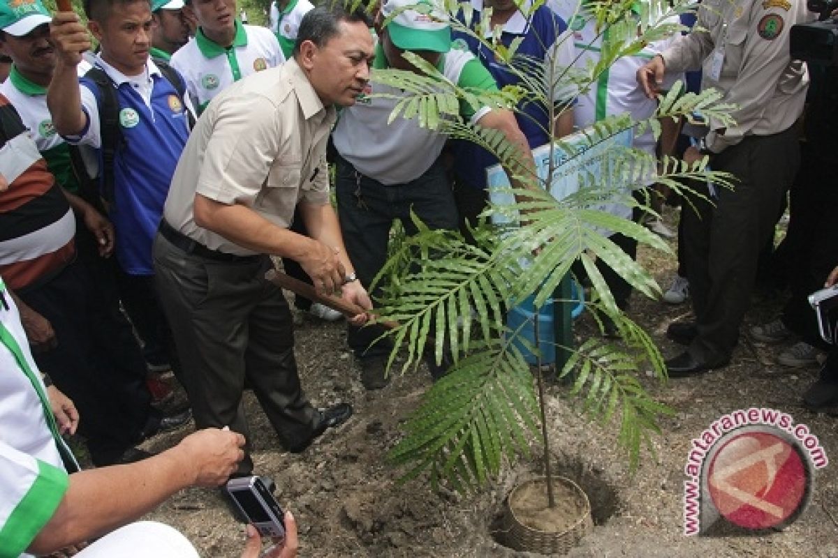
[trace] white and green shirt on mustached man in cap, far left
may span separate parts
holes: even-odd
[[[85,63],[85,69],[90,64]],[[38,146],[41,156],[47,161],[49,171],[55,180],[68,192],[79,193],[79,182],[70,165],[70,147],[64,138],[55,132],[52,115],[47,108],[47,90],[24,78],[18,69],[12,66],[8,79],[0,84],[0,93],[6,95],[9,102],[18,111],[23,125]]]

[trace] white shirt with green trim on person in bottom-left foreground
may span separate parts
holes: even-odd
[[[0,558],[28,556],[70,484],[44,382],[0,279]],[[65,451],[69,453],[69,450]]]

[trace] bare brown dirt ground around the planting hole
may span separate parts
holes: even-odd
[[[671,224],[674,215],[667,210]],[[642,252],[666,288],[675,273],[670,257]],[[747,325],[770,320],[782,299],[754,300]],[[665,339],[666,326],[689,313],[635,294],[630,314],[660,342],[665,356],[679,350]],[[590,320],[577,320],[579,337],[592,335]],[[731,366],[658,386],[644,383],[675,409],[654,438],[639,470],[629,474],[613,427],[580,417],[561,386],[549,387],[548,422],[556,468],[575,479],[592,501],[596,523],[573,556],[805,556],[838,558],[838,418],[800,407],[816,369],[784,371],[776,347],[740,342]],[[285,453],[251,393],[247,409],[255,433],[256,471],[276,479],[283,506],[300,525],[303,556],[525,556],[498,545],[490,534],[500,503],[521,479],[534,476],[538,460],[515,463],[490,489],[460,497],[434,493],[422,480],[397,484],[401,471],[385,461],[400,436],[399,424],[430,386],[427,371],[394,378],[380,392],[365,392],[346,350],[344,326],[303,320],[297,328],[297,361],[303,386],[315,405],[350,402],[354,417],[318,439],[305,453]],[[644,376],[644,372],[639,372]],[[684,465],[691,438],[724,413],[773,407],[804,422],[833,463],[820,469],[808,509],[793,525],[771,535],[685,537],[682,534]],[[163,449],[188,429],[158,437],[147,448]],[[244,536],[215,490],[176,494],[147,519],[182,530],[204,556],[238,556]]]

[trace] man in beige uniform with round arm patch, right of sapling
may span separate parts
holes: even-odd
[[[666,362],[670,376],[693,376],[726,366],[739,338],[756,279],[758,254],[773,235],[785,192],[799,165],[794,121],[803,111],[809,76],[789,58],[789,29],[810,21],[804,0],[705,0],[693,32],[638,70],[649,96],[665,72],[703,70],[735,105],[735,125],[711,119],[701,148],[685,160],[710,156],[713,170],[735,177],[732,190],[692,187],[698,210],[685,205],[685,263],[695,322],[670,325],[667,336],[688,350]]]

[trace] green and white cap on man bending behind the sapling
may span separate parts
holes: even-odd
[[[451,26],[448,15],[429,0],[385,0],[381,15],[387,23],[390,39],[402,50],[430,50],[447,53],[451,50]]]

